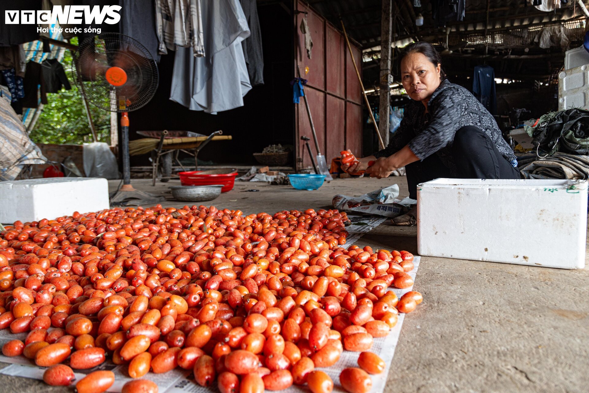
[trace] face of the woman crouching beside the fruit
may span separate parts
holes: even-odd
[[[401,81],[413,100],[429,100],[440,85],[440,64],[434,65],[421,53],[406,55],[401,62]]]

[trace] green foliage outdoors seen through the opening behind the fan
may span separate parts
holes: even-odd
[[[72,42],[73,43],[73,42]],[[47,94],[47,105],[43,107],[35,128],[31,131],[31,140],[35,143],[82,144],[92,142],[92,133],[88,117],[82,102],[82,95],[75,85],[71,68],[72,55],[65,51],[61,61],[65,74],[70,80],[71,90],[62,89],[56,94]],[[110,112],[89,104],[92,121],[98,141],[110,142]]]

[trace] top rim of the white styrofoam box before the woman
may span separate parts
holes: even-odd
[[[521,189],[543,189],[555,187],[569,189],[575,186],[578,190],[587,190],[587,180],[541,180],[541,179],[447,179],[440,178],[418,184],[422,189],[428,188],[521,188]]]

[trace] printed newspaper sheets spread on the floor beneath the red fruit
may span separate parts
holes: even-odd
[[[345,247],[352,245],[352,243],[362,237],[362,235],[382,223],[385,218],[350,216],[350,220],[352,221],[352,224],[346,227],[346,229],[350,232],[350,236],[348,237],[348,242],[344,245]],[[415,256],[413,264],[415,265],[415,268],[408,274],[415,281],[415,274],[417,273],[417,269],[419,267],[419,256]],[[403,293],[409,292],[412,290],[412,288],[413,287],[407,289],[391,289],[394,290],[397,296],[400,298]],[[393,354],[395,354],[397,342],[399,341],[399,333],[401,333],[401,326],[403,325],[404,318],[405,314],[399,314],[399,321],[392,329],[391,333],[389,333],[389,335],[386,337],[374,339],[371,351],[375,352],[375,354],[379,355],[380,358],[385,361],[386,371],[379,375],[372,375],[371,392],[373,393],[382,393],[385,388],[386,378],[389,374],[389,368],[391,367],[391,362],[393,360]],[[24,341],[26,336],[27,333],[12,334],[8,331],[8,329],[4,329],[0,331],[0,346],[4,345],[5,342],[12,339],[21,339]],[[358,356],[359,352],[344,351],[336,365],[322,369],[333,379],[334,391],[344,392],[343,388],[339,384],[339,374],[345,368],[358,367]],[[46,369],[44,367],[36,366],[34,361],[27,359],[24,356],[15,356],[14,358],[9,358],[0,354],[0,362],[11,364],[6,366],[4,369],[1,369],[0,374],[12,375],[15,377],[43,379],[43,373]],[[65,361],[64,364],[68,364],[68,361]],[[76,370],[76,380],[79,381],[81,378],[84,378],[85,375],[97,370],[111,370],[114,372],[115,382],[114,385],[108,389],[109,392],[120,392],[123,388],[123,385],[132,379],[127,373],[127,365],[115,365],[108,361],[92,369]],[[160,393],[211,393],[211,391],[217,391],[216,387],[203,388],[200,385],[197,385],[194,382],[194,375],[191,371],[179,368],[164,374],[154,374],[153,372],[149,372],[143,378],[150,379],[151,381],[155,382],[159,387]],[[300,393],[307,390],[308,389],[306,387],[293,385],[283,392]]]

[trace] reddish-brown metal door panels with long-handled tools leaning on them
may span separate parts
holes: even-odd
[[[307,23],[313,39],[309,59],[305,49],[305,36],[299,28],[305,14],[296,13],[294,72],[296,74],[298,65],[301,76],[308,80],[305,92],[319,147],[325,154],[329,166],[333,157],[339,157],[340,150],[349,148],[354,154],[362,154],[362,91],[346,40],[339,30],[303,2],[296,1],[294,9],[307,11]],[[352,46],[352,51],[359,70],[362,70],[360,49]],[[309,73],[305,75],[306,67],[309,67]],[[302,169],[310,167],[311,161],[300,136],[313,138],[303,100],[297,105],[295,117],[297,169]],[[313,140],[310,141],[310,145],[315,154]]]

